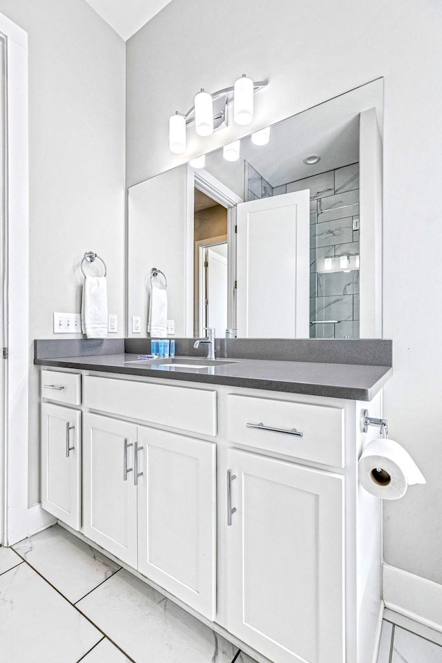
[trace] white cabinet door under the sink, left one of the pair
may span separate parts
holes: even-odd
[[[135,424],[84,415],[84,534],[126,564],[137,565]],[[127,468],[128,472],[125,472]]]

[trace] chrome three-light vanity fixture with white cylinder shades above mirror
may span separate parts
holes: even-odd
[[[266,85],[267,81],[254,82],[243,74],[233,86],[222,88],[213,94],[209,94],[202,88],[195,95],[195,105],[189,108],[187,113],[177,111],[169,118],[171,152],[182,154],[186,151],[186,126],[193,122],[195,122],[195,131],[199,136],[209,136],[215,129],[227,126],[227,106],[232,101],[233,119],[236,124],[250,124],[253,120],[253,93]]]

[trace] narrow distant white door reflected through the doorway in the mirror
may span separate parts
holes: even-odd
[[[227,329],[227,242],[206,249],[207,324],[216,338],[224,338]]]

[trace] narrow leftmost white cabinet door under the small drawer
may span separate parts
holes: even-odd
[[[41,404],[41,506],[81,526],[81,412]]]

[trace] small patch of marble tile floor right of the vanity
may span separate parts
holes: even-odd
[[[385,610],[377,663],[442,663],[442,633]]]

